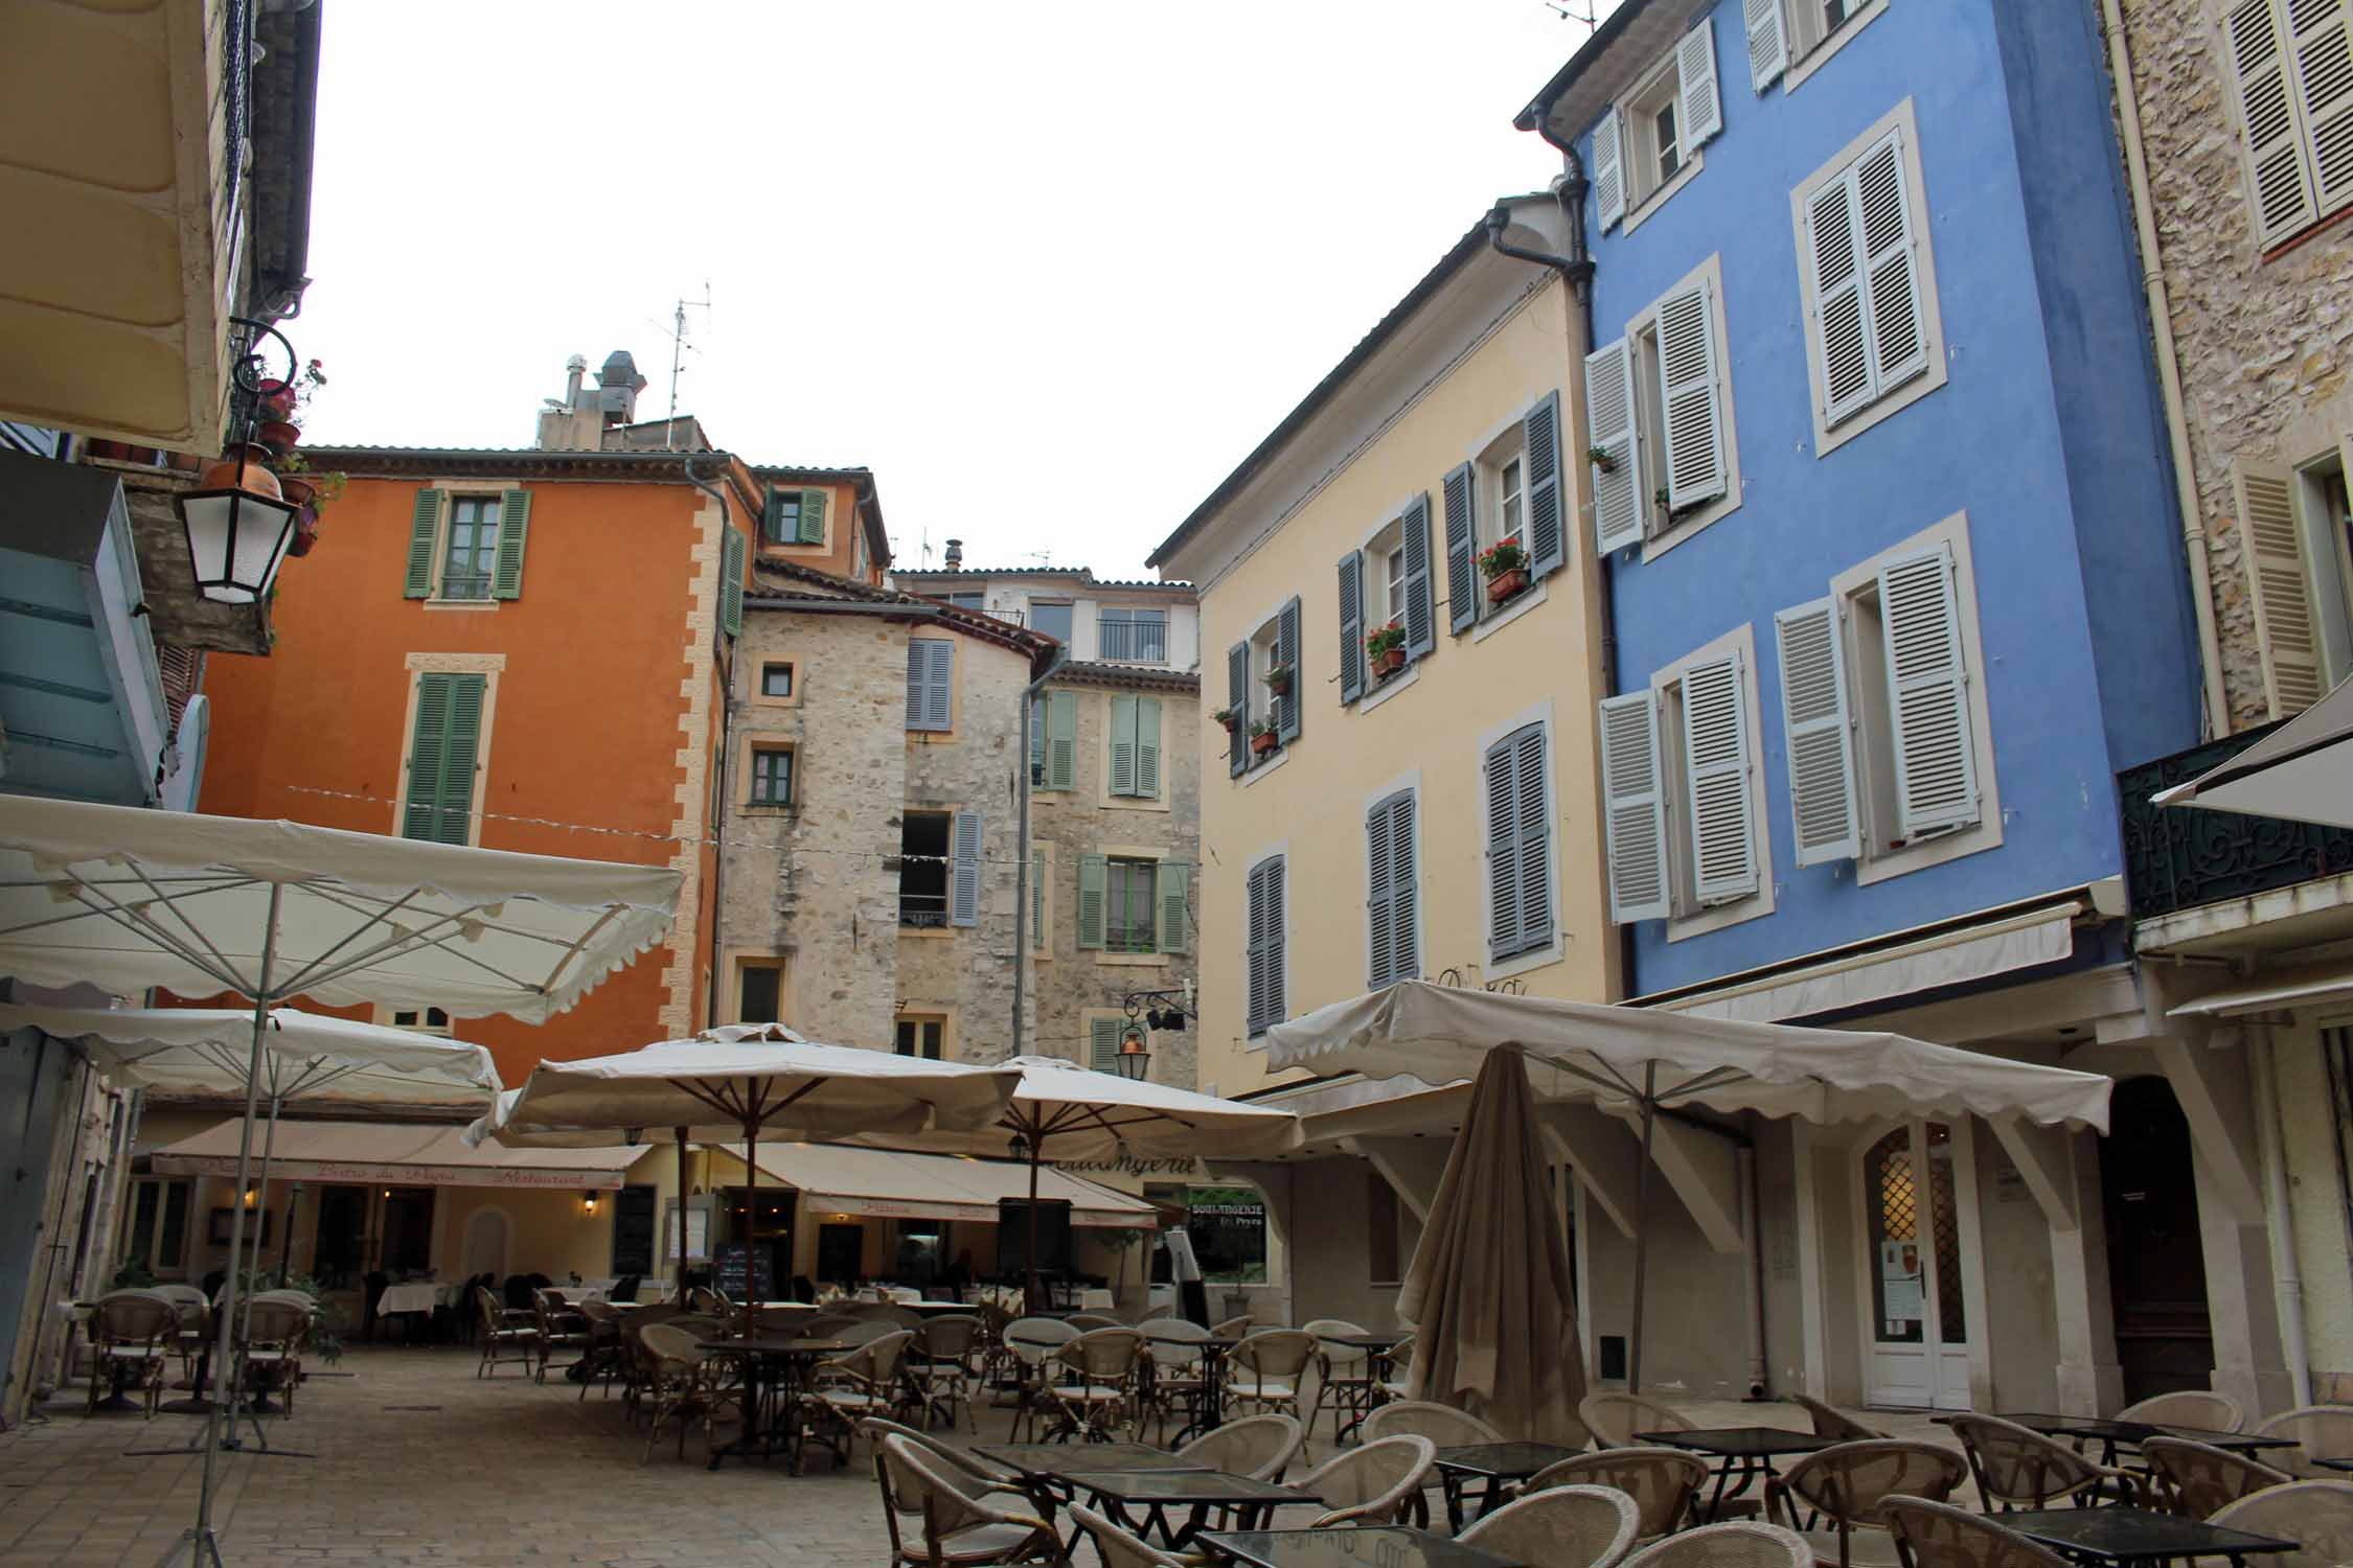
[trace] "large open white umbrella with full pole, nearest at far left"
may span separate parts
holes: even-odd
[[[0,797],[0,976],[162,985],[254,1006],[238,1140],[252,1178],[268,1013],[292,997],[412,1004],[546,1023],[652,947],[680,872],[424,844],[301,823]],[[228,1366],[245,1206],[228,1229],[216,1359]],[[212,1488],[219,1408],[205,1425],[195,1526],[174,1547],[221,1561]],[[235,1441],[233,1436],[228,1441]]]

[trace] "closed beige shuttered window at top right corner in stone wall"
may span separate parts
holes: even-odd
[[[2353,202],[2353,7],[2231,0],[2224,71],[2238,92],[2257,242],[2280,244]]]

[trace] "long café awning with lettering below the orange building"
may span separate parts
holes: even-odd
[[[379,1187],[614,1190],[645,1150],[468,1147],[464,1128],[405,1121],[280,1121],[271,1175]],[[221,1121],[151,1157],[158,1175],[238,1175],[238,1124]]]

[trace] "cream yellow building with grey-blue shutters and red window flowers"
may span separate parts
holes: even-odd
[[[1200,585],[1209,1093],[1285,1077],[1268,1023],[1398,978],[1619,994],[1588,465],[1565,451],[1586,329],[1562,252],[1551,195],[1499,205],[1151,559]],[[1494,599],[1475,557],[1499,541],[1529,583]],[[1405,663],[1384,675],[1365,637],[1393,621]],[[1452,1100],[1384,1095],[1306,1091],[1297,1110],[1355,1112],[1365,1135],[1249,1173],[1292,1321],[1388,1321]]]

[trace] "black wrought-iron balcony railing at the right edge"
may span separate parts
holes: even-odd
[[[2273,729],[2247,729],[2115,776],[2134,919],[2353,872],[2353,832],[2344,827],[2148,804],[2151,795],[2221,766]]]

